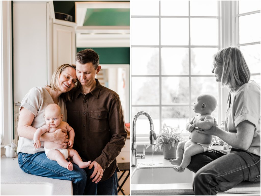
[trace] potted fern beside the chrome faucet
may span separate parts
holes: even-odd
[[[181,132],[179,125],[173,128],[164,124],[157,136],[157,144],[154,145],[154,151],[157,151],[158,148],[160,150],[163,149],[164,159],[176,159],[177,145],[180,141],[183,141]]]

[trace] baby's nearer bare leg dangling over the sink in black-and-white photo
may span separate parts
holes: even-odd
[[[183,159],[180,166],[174,166],[173,169],[177,172],[183,172],[191,162],[191,157],[195,154],[203,153],[204,149],[199,144],[191,144],[185,148]]]

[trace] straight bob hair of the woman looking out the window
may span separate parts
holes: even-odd
[[[246,60],[237,47],[227,47],[217,51],[213,64],[222,67],[221,84],[235,90],[250,80]]]

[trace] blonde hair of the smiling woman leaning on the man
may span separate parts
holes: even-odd
[[[46,85],[47,87],[50,87],[51,90],[60,90],[59,89],[59,77],[60,77],[60,74],[64,71],[64,69],[66,67],[72,67],[74,69],[76,69],[75,65],[74,64],[63,64],[61,65],[60,67],[58,67],[56,69],[56,71],[52,74],[52,79],[51,79],[51,83],[50,85]],[[77,82],[75,83],[75,85],[78,83],[78,80]],[[69,91],[70,92],[70,91]],[[70,101],[71,100],[71,95],[72,93],[69,93],[69,92],[66,92],[64,93],[63,97],[64,99]]]

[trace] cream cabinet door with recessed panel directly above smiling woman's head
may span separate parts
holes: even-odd
[[[54,24],[52,71],[67,63],[75,64],[75,30],[74,27]]]

